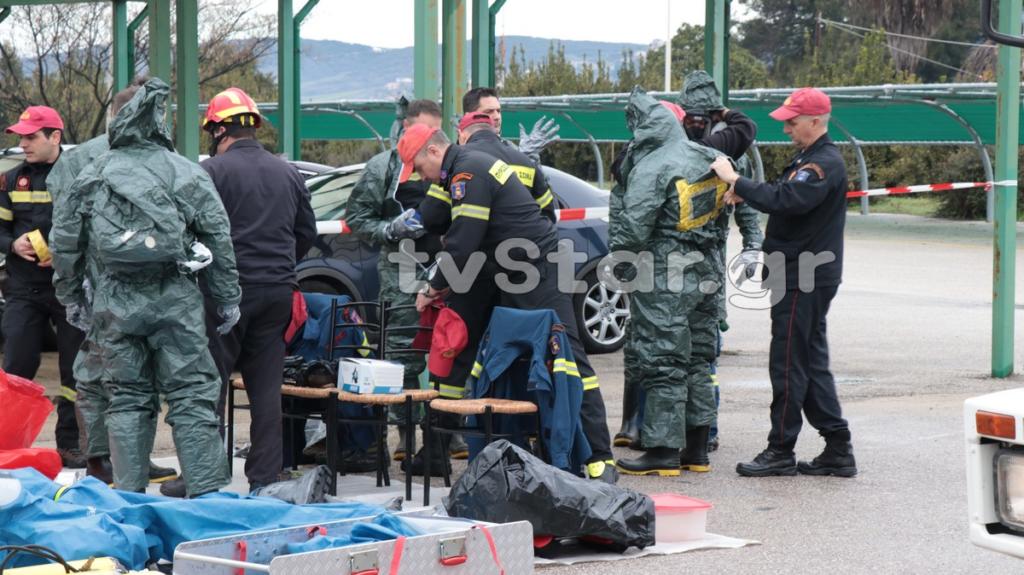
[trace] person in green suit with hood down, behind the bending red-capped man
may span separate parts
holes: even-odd
[[[409,127],[417,124],[440,128],[440,106],[429,99],[407,101],[406,98],[400,98],[392,141],[397,142]],[[359,239],[380,246],[380,257],[377,260],[379,301],[388,302],[391,306],[412,306],[416,303],[415,281],[418,278],[402,278],[398,270],[402,258],[413,257],[413,250],[403,250],[399,245],[403,239],[415,240],[415,251],[427,254],[428,260],[432,260],[440,251],[440,236],[423,227],[419,210],[420,204],[428,194],[439,193],[441,190],[420,178],[399,182],[400,172],[401,160],[394,147],[371,158],[352,187],[352,194],[345,208],[345,223]],[[388,323],[417,325],[419,314],[413,307],[397,309],[389,313]],[[391,331],[387,335],[385,345],[389,350],[408,350],[412,347],[414,336],[416,333],[413,330]],[[395,359],[406,368],[406,389],[420,389],[420,373],[426,368],[423,355],[402,353],[396,355]],[[402,430],[403,428],[399,428],[401,438],[394,452],[396,460],[407,456]],[[422,462],[420,466],[422,467]],[[439,470],[440,467],[434,469]]]

